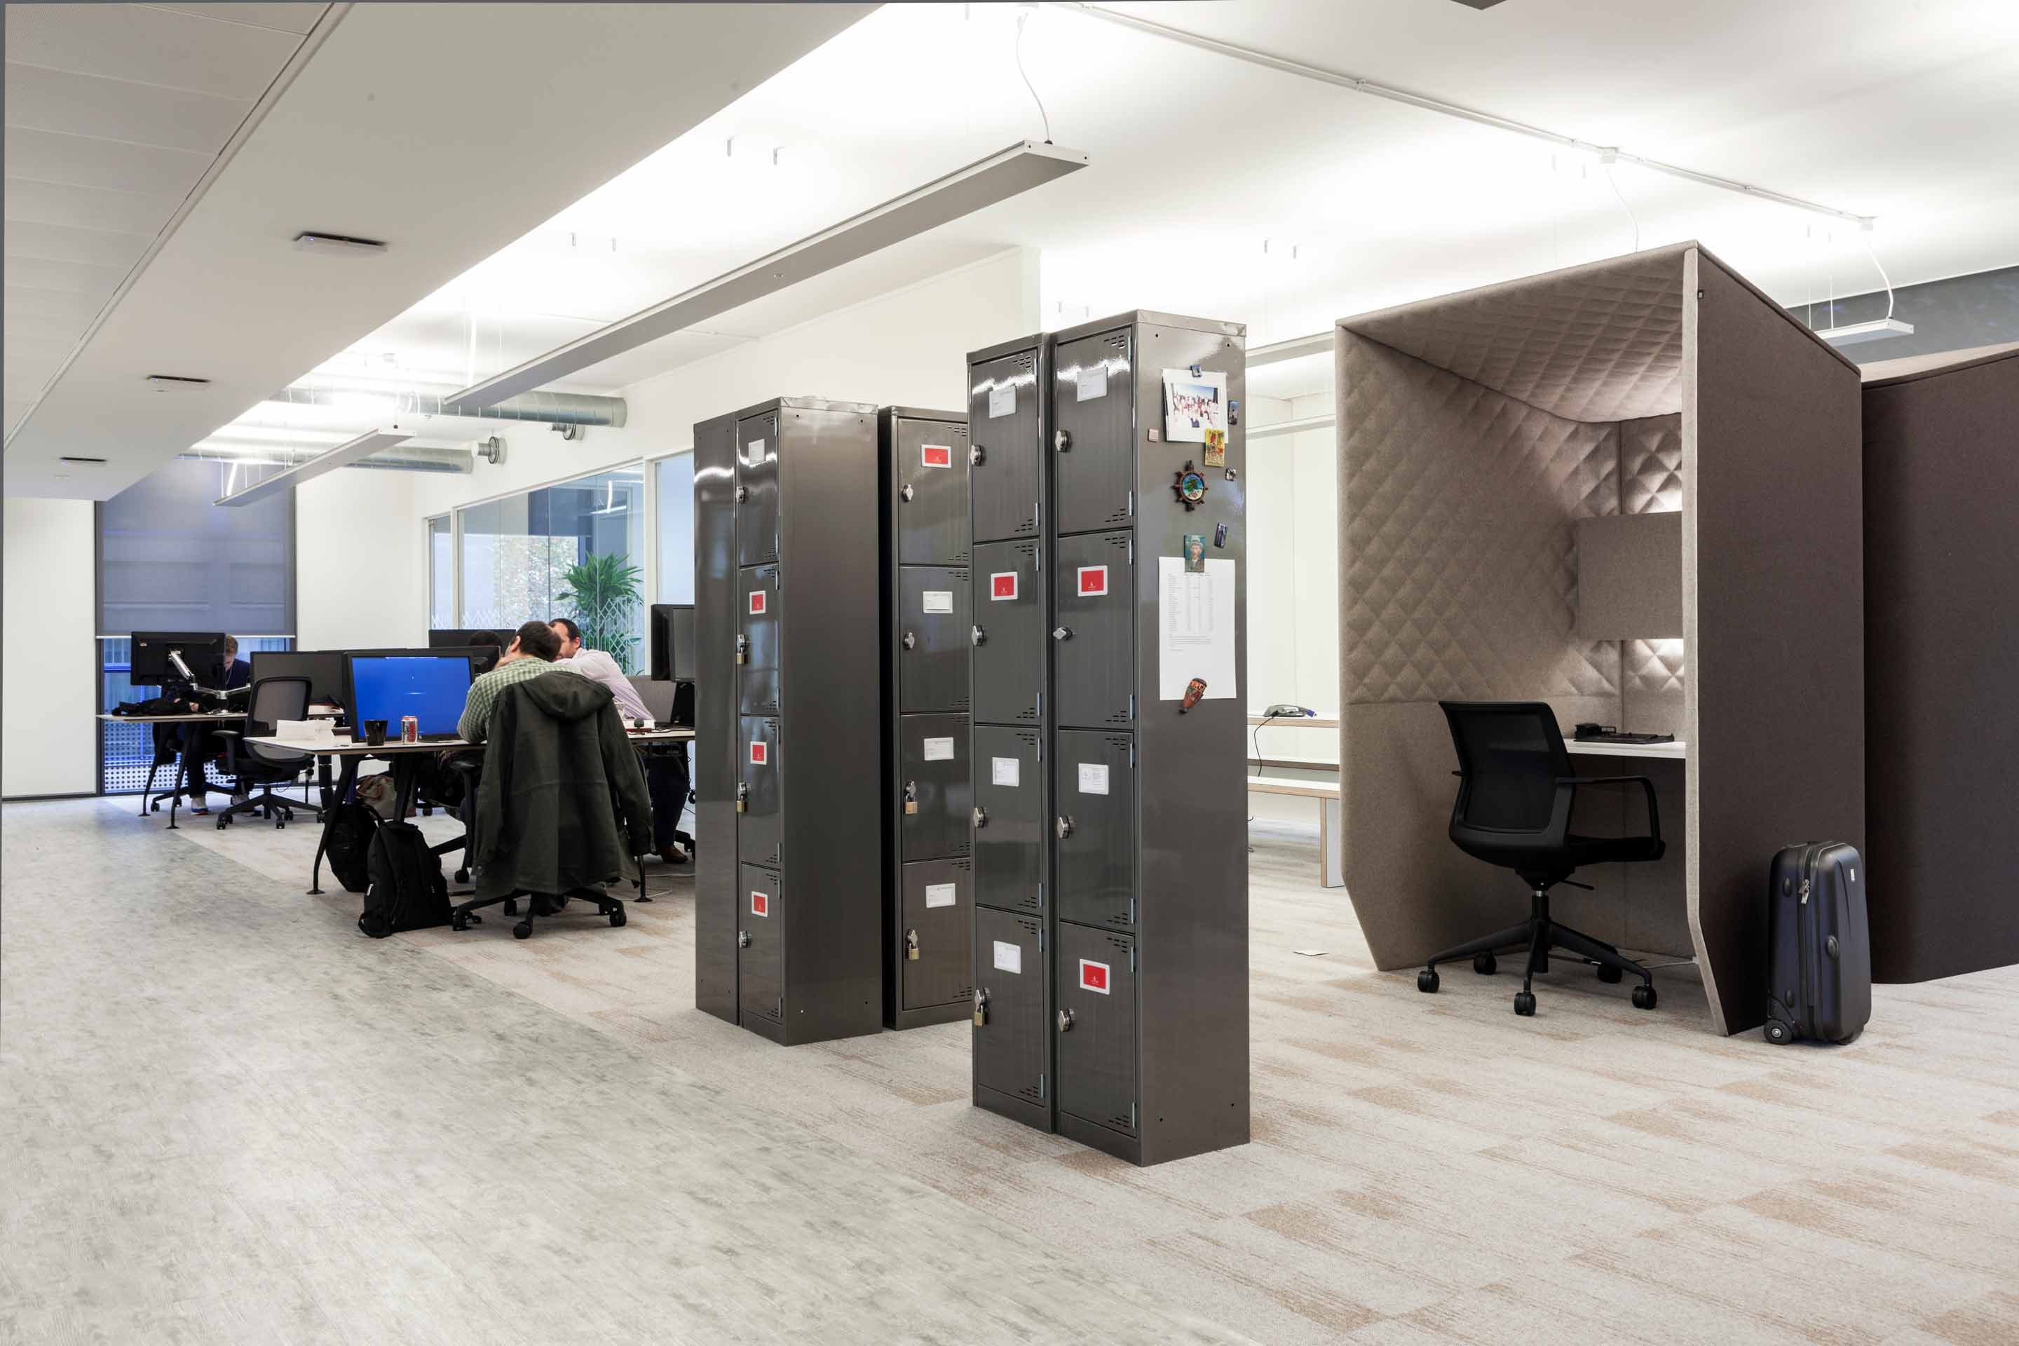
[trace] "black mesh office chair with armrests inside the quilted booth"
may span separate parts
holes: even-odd
[[[1528,971],[1514,995],[1514,1013],[1534,1013],[1534,975],[1549,971],[1549,950],[1569,948],[1597,965],[1599,981],[1625,973],[1641,979],[1633,1005],[1654,1009],[1654,977],[1617,948],[1549,916],[1549,890],[1577,884],[1579,866],[1662,858],[1662,813],[1654,781],[1643,775],[1577,777],[1563,747],[1557,712],[1538,700],[1440,700],[1458,749],[1458,801],[1452,842],[1458,850],[1514,870],[1530,888],[1528,920],[1486,938],[1446,948],[1415,975],[1417,991],[1438,989],[1438,965],[1472,959],[1472,971],[1494,973],[1494,950],[1528,948]],[[1571,831],[1577,791],[1585,785],[1639,785],[1648,795],[1648,835],[1585,837]]]

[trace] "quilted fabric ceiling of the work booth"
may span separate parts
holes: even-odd
[[[1571,420],[1682,410],[1676,244],[1353,317],[1349,331]]]

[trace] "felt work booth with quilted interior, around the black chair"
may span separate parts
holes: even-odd
[[[1343,858],[1375,963],[1526,912],[1446,835],[1436,702],[1547,700],[1692,755],[1633,765],[1670,858],[1585,870],[1599,890],[1555,914],[1694,955],[1716,1027],[1757,1025],[1775,848],[1864,839],[1855,369],[1696,244],[1345,319],[1337,367]],[[1577,521],[1656,511],[1684,515],[1684,640],[1581,640]],[[1851,652],[1821,676],[1797,630],[1817,622]]]

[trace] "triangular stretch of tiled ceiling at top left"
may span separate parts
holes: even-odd
[[[6,6],[6,432],[327,8]]]

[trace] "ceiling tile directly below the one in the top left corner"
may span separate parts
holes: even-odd
[[[6,123],[36,131],[99,135],[135,145],[218,153],[254,99],[220,99],[123,79],[73,75],[36,65],[6,67]]]

